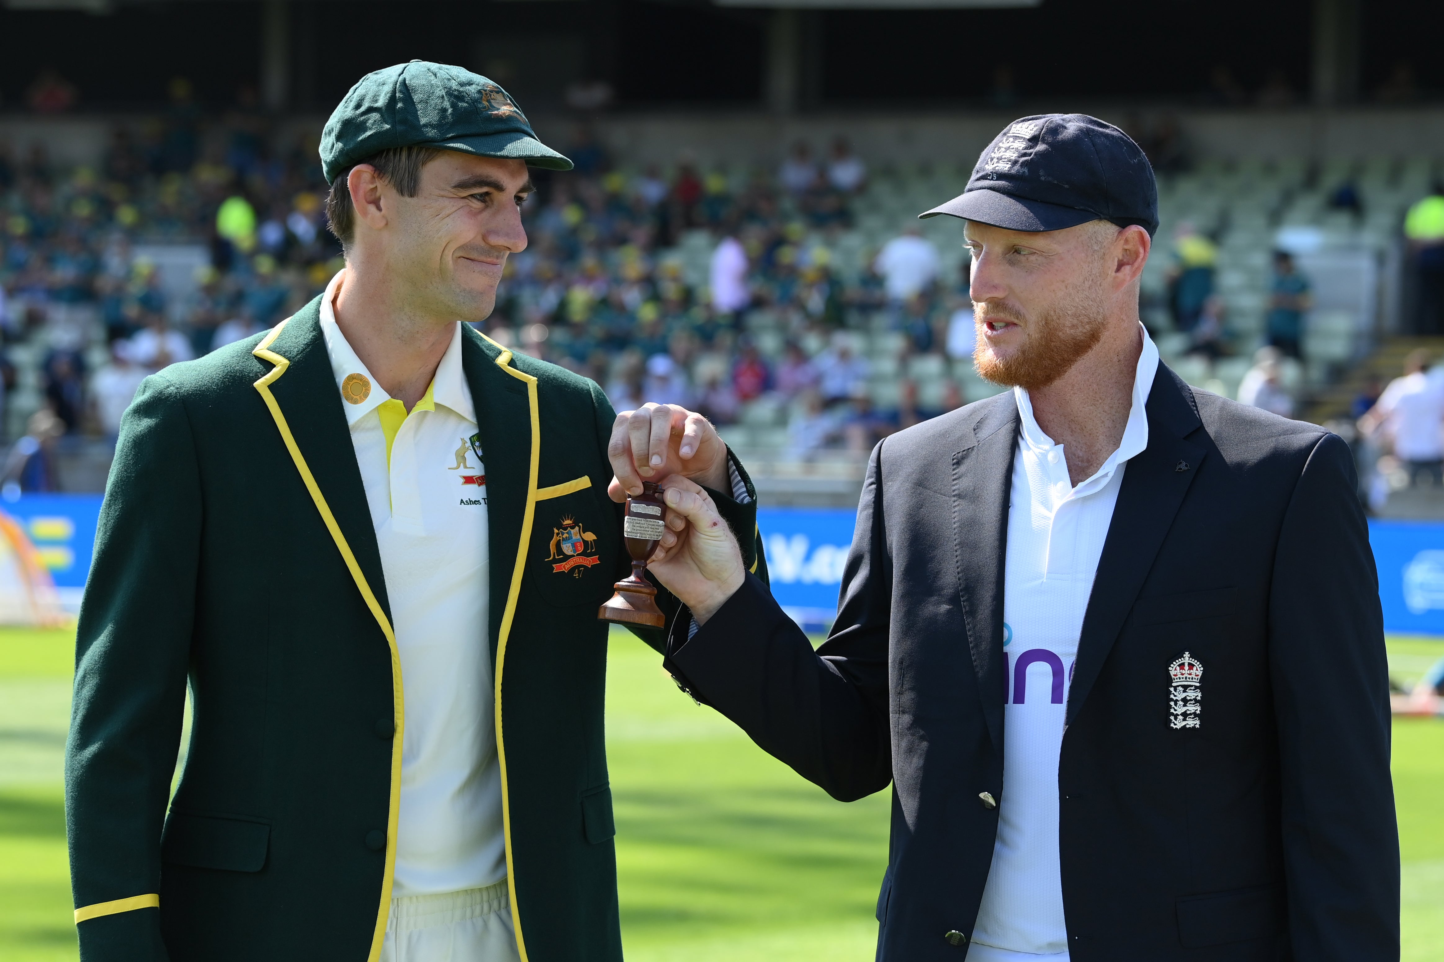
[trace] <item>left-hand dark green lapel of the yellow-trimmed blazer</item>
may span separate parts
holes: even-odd
[[[371,508],[367,503],[365,486],[361,483],[361,469],[357,464],[355,446],[351,443],[351,428],[341,407],[341,391],[331,368],[331,355],[321,333],[321,299],[312,300],[283,323],[284,327],[274,340],[269,345],[261,342],[269,353],[289,362],[280,375],[270,381],[270,392],[365,583],[386,613],[386,619],[390,620],[391,609],[386,596],[386,575],[381,570],[381,551],[375,542]],[[257,348],[256,353],[270,359],[261,353],[261,348]],[[271,359],[271,363],[276,362]]]

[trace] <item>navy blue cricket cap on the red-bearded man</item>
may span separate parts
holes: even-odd
[[[1134,138],[1087,114],[1038,114],[1008,124],[949,213],[1009,231],[1061,231],[1089,221],[1158,231],[1158,183]]]

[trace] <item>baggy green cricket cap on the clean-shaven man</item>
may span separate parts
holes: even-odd
[[[412,146],[572,169],[570,160],[537,140],[500,84],[429,61],[397,63],[357,81],[321,131],[321,169],[331,183],[371,154]]]

